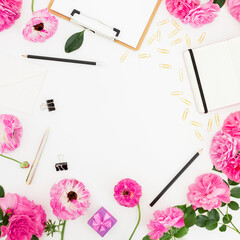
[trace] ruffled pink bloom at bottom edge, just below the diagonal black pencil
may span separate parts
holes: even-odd
[[[168,232],[169,227],[182,228],[184,226],[184,213],[179,208],[167,208],[165,211],[156,211],[154,220],[150,220],[148,225],[151,231],[148,235],[150,239],[158,240],[162,235]]]

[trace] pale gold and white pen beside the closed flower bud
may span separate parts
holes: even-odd
[[[35,160],[34,160],[32,166],[31,166],[31,168],[29,170],[28,175],[27,175],[26,183],[28,185],[30,185],[32,183],[32,179],[33,179],[34,174],[35,174],[35,172],[37,170],[38,162],[39,162],[39,160],[40,160],[40,158],[42,156],[43,150],[45,148],[45,145],[46,145],[46,142],[47,142],[47,139],[48,139],[48,135],[49,135],[49,128],[46,130],[46,132],[45,132],[45,134],[44,134],[44,136],[42,138],[42,141],[41,141],[41,144],[40,144],[40,146],[38,148]]]

